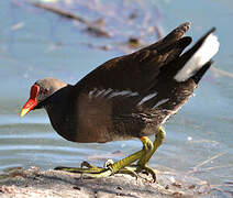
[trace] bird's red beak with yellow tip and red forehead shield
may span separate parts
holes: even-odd
[[[37,85],[33,85],[31,88],[30,92],[30,99],[23,106],[20,117],[25,116],[27,112],[30,112],[36,105],[37,105],[37,99],[36,97],[38,96],[40,87]]]

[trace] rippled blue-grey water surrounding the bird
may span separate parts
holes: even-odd
[[[43,110],[19,118],[20,108],[36,79],[53,76],[75,84],[96,66],[124,54],[119,50],[93,50],[84,43],[112,44],[124,37],[119,34],[112,40],[97,38],[79,31],[74,22],[12,2],[0,1],[0,170],[12,166],[40,166],[42,169],[78,166],[84,160],[102,165],[104,156],[111,156],[115,151],[120,154],[111,156],[113,160],[140,150],[137,140],[107,144],[77,144],[63,140],[52,129]],[[152,13],[160,11],[160,15],[155,14],[155,21],[165,33],[191,21],[188,34],[197,40],[204,31],[217,26],[221,51],[214,57],[214,66],[233,73],[232,1],[160,0],[156,4],[146,1],[144,9]],[[85,10],[84,14],[95,18]],[[127,35],[132,34],[129,29],[125,31]],[[155,40],[153,35],[148,37],[148,41]],[[166,124],[166,142],[151,160],[151,166],[190,173],[217,186],[232,182],[232,78],[213,69],[208,72],[196,97]]]

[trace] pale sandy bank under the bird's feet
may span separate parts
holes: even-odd
[[[115,174],[108,178],[85,179],[80,174],[59,170],[41,172],[38,167],[30,169],[12,168],[0,175],[0,197],[69,197],[69,198],[156,198],[156,197],[200,197],[211,194],[207,182],[170,170],[159,170],[157,182],[137,179],[130,175]],[[208,196],[209,197],[209,196]]]

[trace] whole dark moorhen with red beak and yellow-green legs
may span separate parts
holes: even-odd
[[[220,46],[212,28],[186,50],[192,42],[185,36],[189,29],[190,22],[182,23],[156,43],[103,63],[76,85],[53,77],[32,85],[20,117],[44,108],[53,129],[68,141],[140,139],[143,144],[142,150],[108,161],[103,167],[84,162],[81,167],[55,169],[91,178],[146,172],[156,180],[148,162],[165,140],[164,125],[192,96]],[[148,138],[153,134],[154,142]]]

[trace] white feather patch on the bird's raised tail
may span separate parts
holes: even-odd
[[[193,76],[206,63],[208,63],[219,51],[218,37],[210,34],[201,47],[192,55],[186,65],[174,77],[177,81],[185,81]]]

